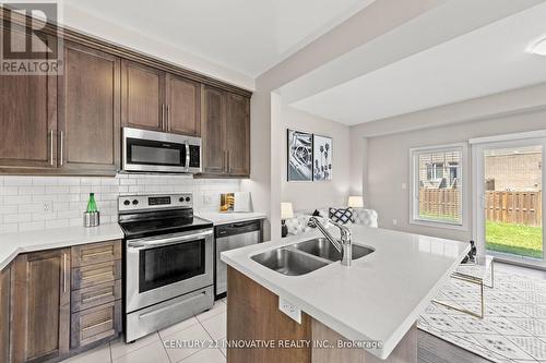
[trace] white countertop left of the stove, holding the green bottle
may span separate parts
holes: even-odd
[[[61,249],[123,238],[118,223],[98,227],[66,227],[0,234],[0,269],[20,253]]]

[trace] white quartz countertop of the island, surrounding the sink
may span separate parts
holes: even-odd
[[[351,267],[332,263],[301,276],[281,275],[250,257],[321,237],[313,230],[282,241],[222,253],[222,261],[300,307],[347,339],[379,341],[368,351],[385,359],[468,252],[467,243],[363,226],[353,243],[376,251]],[[332,228],[330,228],[332,230]],[[339,235],[333,231],[333,235]]]

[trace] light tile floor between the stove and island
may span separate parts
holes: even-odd
[[[226,317],[226,300],[218,300],[210,311],[156,331],[132,344],[126,344],[120,339],[62,363],[225,363],[225,350],[218,348],[166,348],[163,341],[225,339]]]

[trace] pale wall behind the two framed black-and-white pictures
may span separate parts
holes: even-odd
[[[278,141],[285,146],[280,155],[282,202],[292,202],[295,210],[346,205],[349,190],[349,128],[292,107],[283,111],[282,138]],[[332,181],[287,182],[287,129],[332,137]]]

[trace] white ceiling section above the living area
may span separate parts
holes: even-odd
[[[546,57],[526,52],[545,19],[543,3],[292,106],[352,125],[546,82]]]

